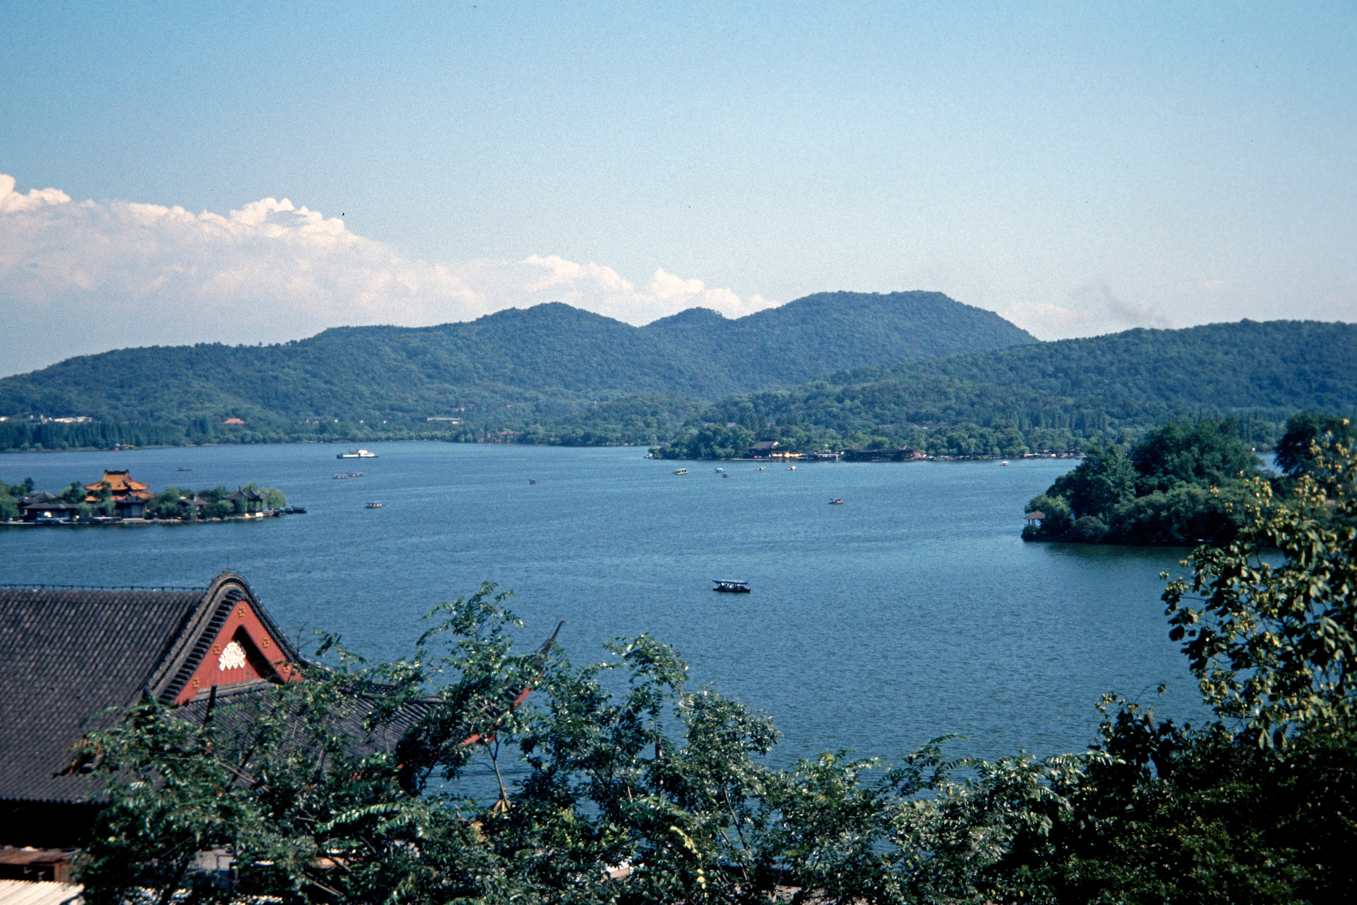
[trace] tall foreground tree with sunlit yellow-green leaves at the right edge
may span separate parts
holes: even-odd
[[[1250,490],[1247,529],[1196,550],[1164,600],[1206,700],[1284,746],[1357,715],[1357,452],[1316,442],[1289,497],[1261,479]]]

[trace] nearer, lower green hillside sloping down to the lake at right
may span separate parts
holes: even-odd
[[[947,455],[1073,449],[1179,417],[1225,415],[1269,444],[1296,411],[1357,412],[1357,326],[1240,322],[1129,330],[836,373],[734,395],[674,436],[670,455],[733,449],[734,422],[784,446],[912,445]],[[699,437],[700,425],[715,425]],[[734,430],[734,429],[730,429]]]

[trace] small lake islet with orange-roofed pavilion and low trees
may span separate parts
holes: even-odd
[[[149,521],[157,516],[147,512],[157,498],[151,484],[133,480],[128,469],[106,469],[103,478],[83,487],[87,491],[85,497],[76,502],[71,501],[69,493],[39,491],[16,498],[19,521],[37,525],[111,524]],[[160,501],[164,502],[163,495]],[[247,487],[227,494],[206,491],[191,497],[180,495],[178,503],[178,513],[172,517],[176,521],[185,517],[262,518],[305,512],[294,506],[273,509],[267,505],[266,494]],[[163,514],[159,517],[164,518]]]

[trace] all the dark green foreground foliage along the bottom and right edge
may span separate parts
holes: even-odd
[[[1357,452],[1308,456],[1293,498],[1255,480],[1236,536],[1164,593],[1208,726],[1107,696],[1080,754],[982,763],[939,738],[776,769],[768,718],[689,688],[669,647],[516,654],[486,585],[407,659],[331,639],[301,682],[94,735],[87,900],[1352,901]],[[229,877],[202,870],[213,849]]]

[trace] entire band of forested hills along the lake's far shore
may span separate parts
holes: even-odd
[[[444,440],[702,459],[776,441],[788,452],[1015,457],[1125,445],[1208,417],[1235,418],[1240,438],[1266,449],[1296,412],[1357,417],[1354,324],[1035,342],[946,299],[798,305],[761,326],[699,312],[639,334],[546,305],[474,331],[354,328],[280,347],[73,358],[0,380],[0,450]],[[498,350],[493,361],[467,345],[472,335],[490,343],[480,355]]]

